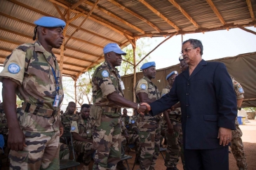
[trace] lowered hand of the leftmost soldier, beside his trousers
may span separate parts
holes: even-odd
[[[9,128],[7,146],[11,150],[19,151],[26,147],[25,135],[20,127]]]

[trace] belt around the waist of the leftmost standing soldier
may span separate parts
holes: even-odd
[[[39,115],[39,116],[43,116],[46,118],[51,118],[54,115],[58,114],[58,110],[42,108],[40,106],[35,106],[35,105],[29,104],[27,102],[25,102],[22,105],[22,110],[27,113],[32,113],[33,115]]]

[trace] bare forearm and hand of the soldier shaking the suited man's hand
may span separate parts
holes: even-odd
[[[120,96],[116,92],[113,92],[112,94],[107,95],[107,99],[109,101],[113,101],[115,104],[118,104],[119,106],[125,106],[129,108],[135,108],[137,110],[137,103],[134,103],[133,101],[129,101],[128,99]],[[140,108],[137,110],[140,113],[147,113],[147,106],[140,105]]]

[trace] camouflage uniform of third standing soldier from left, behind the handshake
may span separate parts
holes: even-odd
[[[135,85],[136,97],[140,92],[148,94],[149,99],[159,99],[160,94],[156,85],[143,77]],[[137,100],[140,101],[140,99]],[[154,169],[160,152],[160,121],[161,115],[138,115],[137,126],[140,130],[140,169]]]

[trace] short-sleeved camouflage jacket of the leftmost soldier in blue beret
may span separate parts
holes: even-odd
[[[57,77],[57,83],[55,83],[53,71]],[[55,55],[46,51],[39,41],[22,44],[13,50],[4,62],[0,80],[2,78],[11,78],[19,85],[16,94],[20,99],[34,106],[59,111],[63,99],[62,75]],[[59,106],[53,107],[57,85],[60,88],[58,93],[61,97]],[[60,123],[58,114],[55,118],[39,118],[24,111],[18,113],[18,120],[20,126],[29,132],[53,132],[59,129]]]

